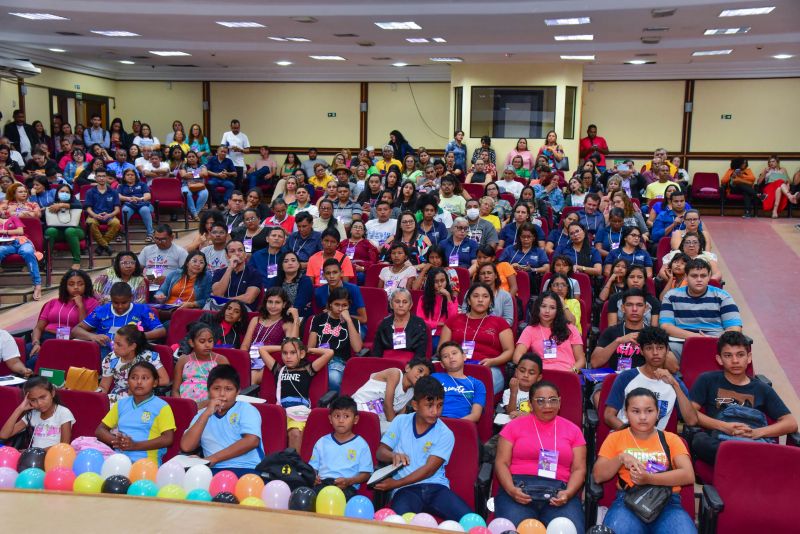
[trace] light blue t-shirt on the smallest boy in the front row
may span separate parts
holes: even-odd
[[[372,473],[372,451],[361,436],[353,436],[343,443],[336,441],[333,433],[322,436],[314,444],[308,462],[319,478],[349,478],[359,473]],[[358,489],[360,484],[353,484]]]

